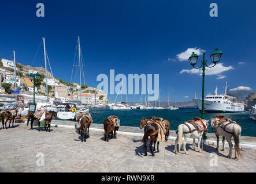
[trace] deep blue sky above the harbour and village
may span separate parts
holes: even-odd
[[[38,2],[44,3],[45,17],[36,17]],[[209,16],[212,2],[218,5],[218,17]],[[255,91],[255,5],[255,1],[1,1],[0,57],[13,59],[15,49],[17,62],[44,67],[42,46],[32,61],[45,37],[54,77],[69,82],[79,35],[89,86],[96,87],[97,75],[109,75],[110,69],[127,76],[159,74],[161,101],[166,101],[169,86],[176,89],[176,101],[190,101],[195,93],[201,95],[202,76],[191,70],[184,52],[206,51],[210,63],[210,54],[219,48],[220,65],[206,76],[205,93],[213,93],[216,85],[221,93],[226,81],[230,89],[245,86]],[[132,98],[128,95],[129,101]]]

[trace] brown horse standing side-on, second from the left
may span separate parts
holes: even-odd
[[[45,113],[45,117],[44,117],[44,129],[46,129],[46,132],[49,128],[49,132],[50,132],[50,127],[51,127],[51,120],[53,119],[53,116],[55,118],[58,118],[57,116],[57,113],[56,112],[52,112],[52,111],[49,111],[49,112],[44,112]],[[28,114],[27,114],[27,118],[28,118],[28,121],[27,121],[27,126],[28,126],[28,123],[29,123],[29,120],[31,121],[31,129],[33,129],[33,123],[34,123],[34,120],[36,120],[36,122],[38,122],[38,131],[40,131],[40,121],[39,121],[39,118],[35,118],[34,117],[34,113],[32,111],[28,111]],[[47,128],[46,128],[46,124],[47,124]]]

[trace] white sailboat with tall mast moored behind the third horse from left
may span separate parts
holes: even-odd
[[[80,75],[80,86],[81,86],[81,47],[80,47],[80,37],[78,36],[78,46],[79,46],[79,51],[78,51],[78,55],[79,55],[79,75]],[[80,87],[80,104],[81,104],[81,87]],[[66,102],[64,104],[60,104],[63,108],[61,109],[60,112],[57,113],[58,118],[60,118],[61,120],[73,120],[76,118],[76,116],[80,113],[88,113],[89,109],[83,107],[83,106],[79,106],[78,104],[75,103],[69,103]],[[70,106],[72,109],[71,111],[69,111],[68,108],[65,109],[65,106]]]

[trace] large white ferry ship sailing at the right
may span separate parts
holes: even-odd
[[[202,110],[202,99],[194,98],[193,101]],[[244,104],[238,101],[236,97],[227,95],[227,83],[225,85],[225,94],[217,94],[217,86],[213,95],[206,95],[205,112],[207,113],[238,113],[244,112]]]

